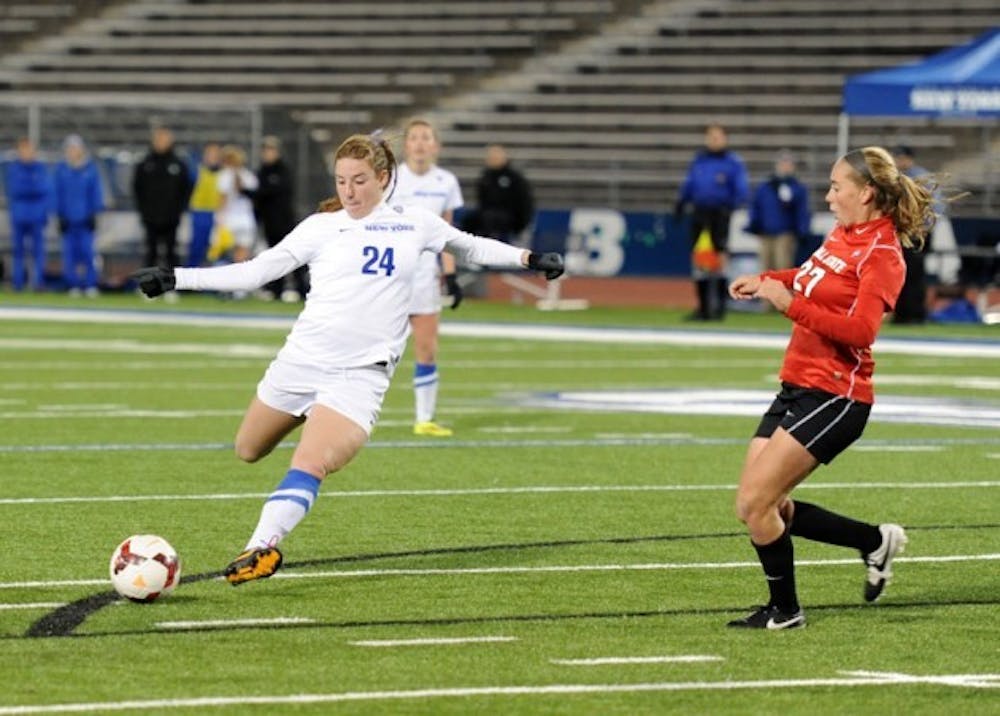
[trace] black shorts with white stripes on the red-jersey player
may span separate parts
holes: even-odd
[[[825,390],[782,383],[754,437],[769,438],[784,428],[823,464],[861,437],[872,406]]]

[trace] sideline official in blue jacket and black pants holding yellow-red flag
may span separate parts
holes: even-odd
[[[705,128],[705,146],[695,154],[674,207],[678,221],[689,205],[693,207],[691,246],[694,248],[702,232],[707,232],[718,261],[711,267],[694,268],[698,309],[690,320],[721,320],[726,315],[729,219],[734,209],[746,204],[750,193],[743,160],[728,149],[728,144],[722,125]]]

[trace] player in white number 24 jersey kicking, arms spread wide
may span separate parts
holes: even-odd
[[[384,139],[353,135],[334,155],[336,196],[277,246],[229,266],[133,274],[152,298],[175,289],[249,291],[309,265],[309,295],[257,385],[236,433],[236,454],[256,462],[299,425],[302,436],[244,551],[224,570],[233,585],[274,574],[282,560],[277,544],[309,512],[323,479],[368,441],[406,346],[421,253],[447,247],[475,263],[529,268],[548,279],[563,272],[559,254],[466,234],[419,207],[390,206],[383,193],[395,170]]]

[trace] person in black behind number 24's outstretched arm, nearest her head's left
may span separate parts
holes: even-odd
[[[295,228],[292,172],[281,156],[281,140],[277,137],[264,137],[260,160],[254,210],[264,229],[267,245],[277,246]],[[272,281],[265,287],[268,297],[280,297],[286,303],[302,300],[308,291],[308,271],[305,266],[295,269],[295,288],[283,288],[284,279]]]

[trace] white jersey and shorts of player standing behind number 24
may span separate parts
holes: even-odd
[[[462,206],[462,189],[454,174],[431,166],[423,174],[414,173],[405,163],[397,167],[396,187],[390,202],[401,206],[419,206],[438,216]],[[425,315],[441,311],[441,282],[438,257],[422,254],[413,278],[413,301],[410,313]]]

